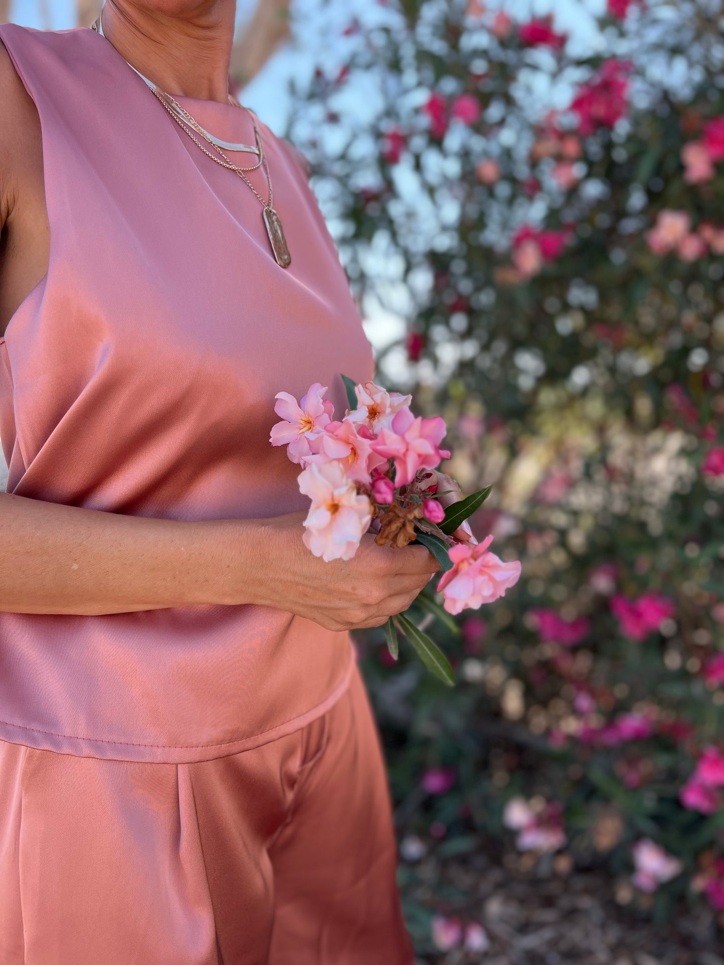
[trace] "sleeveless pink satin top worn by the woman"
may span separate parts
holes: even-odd
[[[268,437],[274,395],[313,382],[345,410],[370,346],[293,149],[260,124],[292,264],[263,208],[92,30],[5,25],[42,126],[47,275],[0,342],[8,491],[177,520],[309,506]],[[182,97],[217,137],[251,118]],[[250,165],[255,155],[235,154]],[[263,171],[250,176],[266,197]],[[347,688],[348,634],[262,606],[109,616],[0,613],[0,739],[76,756],[190,762],[305,726]]]

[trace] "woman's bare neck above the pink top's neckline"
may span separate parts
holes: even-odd
[[[169,94],[227,103],[235,0],[197,3],[188,14],[149,10],[143,0],[109,0],[103,34],[135,69]]]

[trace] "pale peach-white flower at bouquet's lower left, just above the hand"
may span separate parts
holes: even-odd
[[[299,491],[312,500],[304,520],[304,545],[314,556],[351,560],[372,520],[367,496],[360,496],[339,462],[312,464],[298,477]]]

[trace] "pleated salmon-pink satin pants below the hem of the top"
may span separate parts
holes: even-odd
[[[201,763],[0,743],[2,965],[409,965],[375,724]]]

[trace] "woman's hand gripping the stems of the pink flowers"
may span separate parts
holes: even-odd
[[[294,512],[262,524],[253,602],[314,620],[327,630],[379,626],[403,613],[439,569],[425,547],[377,546],[370,533],[351,560],[325,563],[302,542],[305,516]]]

